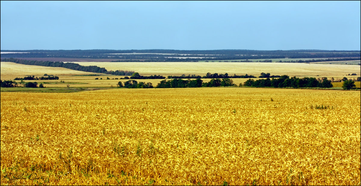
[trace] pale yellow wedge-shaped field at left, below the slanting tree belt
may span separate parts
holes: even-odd
[[[43,76],[44,74],[52,75],[69,75],[69,74],[95,74],[83,71],[65,69],[61,67],[23,65],[14,62],[0,62],[1,80],[12,80],[16,77],[23,78],[26,75]]]

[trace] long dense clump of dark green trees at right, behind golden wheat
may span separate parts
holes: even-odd
[[[331,88],[333,85],[331,81],[326,77],[323,78],[290,78],[288,75],[282,75],[277,79],[248,79],[243,83],[243,86],[248,87],[274,87],[274,88],[282,88],[282,87],[292,87],[292,88],[303,88],[303,87],[319,87],[319,88]]]

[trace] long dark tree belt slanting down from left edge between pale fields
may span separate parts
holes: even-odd
[[[99,66],[82,66],[72,62],[53,62],[53,61],[31,61],[31,60],[21,60],[21,59],[1,59],[1,61],[6,62],[14,62],[23,65],[38,65],[38,66],[51,66],[51,67],[62,67],[71,70],[78,70],[84,72],[93,72],[93,73],[104,73],[104,74],[112,74],[112,75],[132,75],[134,71],[124,71],[124,70],[116,70],[116,71],[108,71],[105,68],[100,68]]]

